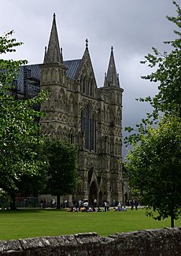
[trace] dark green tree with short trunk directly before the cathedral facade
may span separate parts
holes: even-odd
[[[46,155],[49,159],[47,190],[57,196],[57,209],[60,209],[60,196],[70,195],[76,189],[78,174],[76,168],[76,146],[53,140],[48,142]]]

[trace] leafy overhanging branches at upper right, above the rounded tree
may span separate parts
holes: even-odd
[[[181,28],[181,9],[179,5],[173,1],[176,6],[177,17],[167,17],[177,27]],[[147,54],[142,64],[148,64],[150,68],[156,69],[150,75],[142,76],[150,82],[159,82],[158,94],[153,98],[146,98],[153,106],[153,113],[159,111],[164,114],[174,113],[181,116],[181,32],[174,31],[179,36],[173,41],[164,42],[172,47],[171,52],[161,53],[153,47],[153,54]],[[142,100],[142,99],[141,99]]]

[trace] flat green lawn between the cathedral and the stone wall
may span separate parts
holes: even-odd
[[[175,227],[181,226],[181,219]],[[127,212],[68,213],[63,210],[20,209],[0,211],[0,239],[22,239],[36,236],[61,236],[97,232],[108,236],[115,232],[170,227],[170,219],[154,221],[145,210]]]

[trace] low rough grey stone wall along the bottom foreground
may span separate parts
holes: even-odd
[[[181,228],[117,233],[96,233],[0,240],[0,255],[30,256],[173,256],[181,255]]]

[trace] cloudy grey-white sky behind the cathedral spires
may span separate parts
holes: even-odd
[[[157,85],[140,78],[150,70],[139,61],[151,52],[152,46],[167,50],[163,42],[174,38],[175,27],[166,19],[166,15],[175,15],[172,0],[0,0],[0,3],[0,35],[13,29],[13,36],[24,42],[11,58],[41,63],[56,13],[64,59],[82,58],[88,39],[98,87],[103,86],[113,46],[124,88],[123,127],[134,126],[149,111],[146,103],[136,102],[135,98],[154,95]]]

